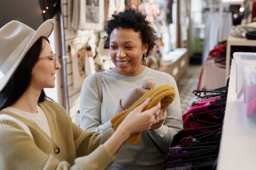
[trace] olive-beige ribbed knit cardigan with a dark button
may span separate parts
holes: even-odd
[[[46,100],[39,103],[45,112],[52,138],[35,123],[12,113],[27,124],[34,140],[11,119],[0,119],[1,170],[104,170],[116,159],[103,147],[114,132],[102,135],[83,131],[67,116],[58,103]]]

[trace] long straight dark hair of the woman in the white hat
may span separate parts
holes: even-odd
[[[0,92],[0,110],[16,102],[29,87],[32,69],[43,48],[43,39],[49,42],[46,37],[40,37],[31,46],[7,85]],[[43,102],[45,97],[45,92],[42,90],[38,102]]]

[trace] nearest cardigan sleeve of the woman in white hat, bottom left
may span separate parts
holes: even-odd
[[[34,140],[14,121],[0,120],[0,169],[104,170],[113,160],[100,145],[90,155],[75,159],[71,166],[40,150]]]

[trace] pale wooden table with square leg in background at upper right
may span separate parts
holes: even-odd
[[[231,35],[227,38],[225,81],[229,77],[231,46],[256,46],[256,40],[248,40],[247,38],[234,37]],[[240,51],[237,51],[237,52],[240,52]]]

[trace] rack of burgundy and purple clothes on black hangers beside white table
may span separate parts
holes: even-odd
[[[184,128],[173,137],[165,170],[216,170],[228,83],[214,90],[193,91],[195,101],[182,116]]]

